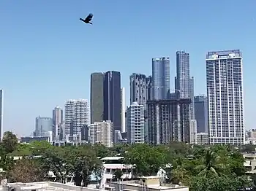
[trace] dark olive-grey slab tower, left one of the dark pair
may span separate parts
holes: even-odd
[[[91,123],[101,122],[104,112],[104,73],[91,74]]]

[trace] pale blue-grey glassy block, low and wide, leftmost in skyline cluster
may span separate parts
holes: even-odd
[[[36,117],[35,136],[49,136],[52,130],[53,119],[50,117]]]

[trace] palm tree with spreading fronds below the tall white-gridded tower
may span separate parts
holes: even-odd
[[[220,157],[216,155],[215,152],[211,150],[206,151],[206,155],[203,158],[203,165],[197,165],[195,170],[200,171],[198,175],[208,176],[209,174],[215,174],[217,176],[222,175],[225,165],[219,163]]]

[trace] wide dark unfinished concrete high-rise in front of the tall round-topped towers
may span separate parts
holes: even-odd
[[[189,98],[148,101],[148,143],[168,144],[170,141],[190,143],[190,103]]]

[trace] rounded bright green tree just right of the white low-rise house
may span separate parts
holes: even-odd
[[[156,175],[159,168],[165,168],[167,155],[158,147],[148,144],[134,144],[125,153],[125,163],[134,165],[135,176]]]

